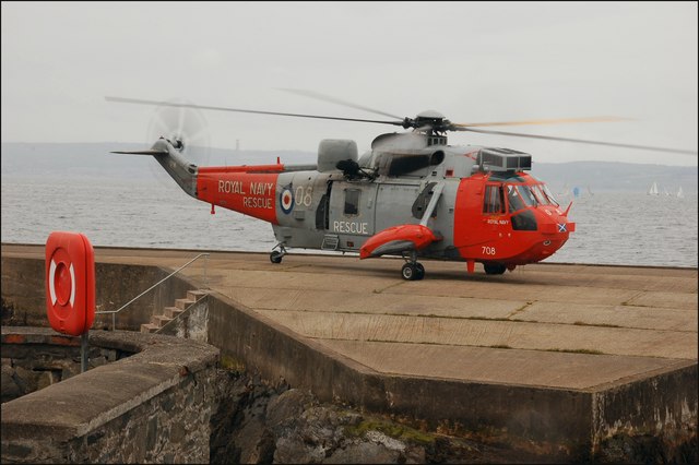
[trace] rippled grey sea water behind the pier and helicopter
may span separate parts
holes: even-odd
[[[96,246],[269,252],[262,220],[187,195],[171,180],[2,177],[2,242],[46,243],[55,230]],[[572,206],[576,231],[546,262],[697,267],[697,193],[587,193]]]

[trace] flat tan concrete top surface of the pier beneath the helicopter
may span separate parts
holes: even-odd
[[[40,249],[3,245],[2,254],[26,257]],[[95,251],[102,263],[170,267],[194,254]],[[482,375],[489,367],[498,382],[526,383],[518,373],[534,371],[537,379],[556,379],[561,365],[579,363],[568,383],[583,388],[576,379],[589,378],[593,384],[584,388],[592,388],[630,375],[629,367],[642,374],[697,360],[697,270],[536,264],[502,276],[469,276],[461,263],[427,261],[424,281],[404,282],[400,266],[391,259],[300,254],[273,265],[265,254],[216,252],[206,277],[213,290],[379,372],[396,372],[402,358],[414,375],[452,370],[450,378],[470,379],[458,375],[454,357],[443,354],[479,347]],[[203,279],[203,261],[185,274]],[[417,347],[408,350],[408,344]],[[360,355],[371,353],[368,347],[395,355],[383,367],[381,355]],[[436,357],[420,363],[415,353],[425,350]],[[568,353],[561,363],[542,363],[556,351]],[[590,351],[607,357],[591,358]],[[519,369],[502,369],[507,358],[518,359]]]

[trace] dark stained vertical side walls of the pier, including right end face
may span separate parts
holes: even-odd
[[[22,263],[14,266],[25,270]],[[125,274],[149,281],[146,277],[152,275],[141,269],[145,267],[115,269],[111,277],[98,281],[103,284],[97,296],[108,295],[109,290],[102,287]],[[4,276],[3,259],[3,298]],[[24,276],[28,278],[27,274]],[[170,293],[164,298],[169,301],[163,306],[198,287],[177,276],[168,282],[170,287],[163,293]],[[42,300],[42,308],[43,305]],[[151,310],[144,310],[147,311]],[[259,372],[273,383],[284,381],[309,389],[323,402],[340,401],[427,425],[433,430],[440,428],[513,448],[530,448],[559,460],[589,460],[619,437],[657,438],[657,448],[665,457],[691,441],[696,446],[696,361],[591,391],[388,375],[303,339],[217,293],[170,323],[166,333],[197,335],[200,339],[206,334],[208,342],[222,350],[227,363]]]

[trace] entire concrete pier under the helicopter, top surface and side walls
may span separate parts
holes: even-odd
[[[2,246],[3,260],[42,252]],[[170,269],[197,253],[95,251]],[[696,425],[697,270],[424,264],[404,282],[392,259],[212,253],[210,342],[323,400],[543,442]],[[185,274],[202,283],[202,265]]]

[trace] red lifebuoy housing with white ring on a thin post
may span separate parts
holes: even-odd
[[[46,241],[46,313],[55,331],[82,336],[85,371],[95,320],[95,252],[80,233],[54,231]]]

